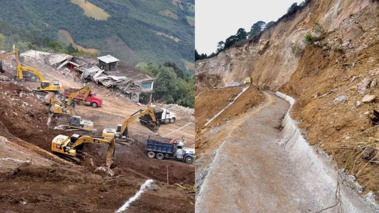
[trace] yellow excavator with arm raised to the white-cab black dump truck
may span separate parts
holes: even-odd
[[[145,107],[144,107],[145,108]],[[159,129],[159,121],[157,121],[154,109],[147,106],[147,109],[140,109],[133,113],[130,117],[126,118],[122,124],[117,125],[117,129],[106,128],[103,130],[104,138],[113,138],[117,143],[129,146],[133,143],[133,139],[128,137],[128,124],[135,119],[149,113],[153,122],[147,123],[146,126],[152,131],[157,132]]]

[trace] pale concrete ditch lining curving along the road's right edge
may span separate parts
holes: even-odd
[[[289,153],[290,158],[296,164],[297,172],[300,178],[306,183],[310,191],[318,197],[319,205],[327,208],[335,204],[335,191],[337,188],[337,169],[329,163],[325,156],[315,152],[315,148],[309,146],[308,142],[301,135],[296,126],[296,122],[290,117],[290,111],[295,100],[281,92],[275,93],[282,99],[290,103],[290,108],[285,114],[283,120],[283,138],[285,138],[285,150]],[[344,180],[340,179],[341,201],[344,206],[343,212],[379,212],[379,209],[372,204],[372,200],[367,200],[359,196],[356,190],[352,190],[343,184]],[[323,212],[337,212],[337,209],[331,208]],[[340,211],[338,211],[340,212]]]

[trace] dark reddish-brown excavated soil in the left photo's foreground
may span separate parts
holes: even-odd
[[[172,160],[148,159],[143,143],[146,134],[133,133],[136,143],[131,147],[116,146],[112,164],[116,177],[102,178],[92,172],[105,164],[107,146],[86,146],[94,166],[89,158],[77,166],[56,157],[51,153],[52,139],[70,133],[46,125],[47,106],[28,93],[27,88],[5,82],[0,82],[0,88],[0,136],[56,162],[44,167],[32,161],[13,172],[0,173],[1,212],[114,212],[147,179],[156,182],[131,204],[128,212],[194,211],[194,194],[189,193],[194,185],[193,166]],[[169,184],[166,183],[167,171]],[[184,185],[187,190],[175,183]],[[22,202],[27,204],[22,205]]]

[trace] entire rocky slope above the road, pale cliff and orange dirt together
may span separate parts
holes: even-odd
[[[222,79],[218,86],[227,86],[252,76],[257,85],[294,97],[291,117],[310,145],[363,186],[351,188],[377,199],[378,27],[378,1],[313,0],[260,38],[197,61],[197,81]],[[307,43],[307,33],[318,41]]]

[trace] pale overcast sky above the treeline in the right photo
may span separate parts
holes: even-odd
[[[217,42],[250,31],[257,21],[277,21],[292,3],[303,0],[196,0],[195,48],[199,54],[216,52]]]

